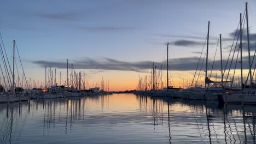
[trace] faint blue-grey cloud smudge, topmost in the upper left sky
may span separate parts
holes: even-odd
[[[34,16],[53,20],[77,20],[78,13],[37,13]]]

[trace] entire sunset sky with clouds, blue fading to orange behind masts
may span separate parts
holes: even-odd
[[[26,77],[31,80],[44,83],[45,67],[51,67],[56,68],[57,77],[61,71],[64,82],[68,59],[75,71],[85,70],[90,87],[103,78],[109,80],[111,91],[136,89],[139,77],[150,75],[152,62],[166,69],[166,47],[170,43],[169,67],[177,85],[195,73],[208,21],[210,61],[219,34],[223,38],[223,58],[228,57],[245,2],[253,47],[256,1],[249,0],[2,0],[0,32],[9,59],[13,55],[12,41],[16,40]],[[248,52],[244,56],[246,61]],[[219,61],[219,53],[216,59]],[[166,79],[166,71],[162,73]]]

